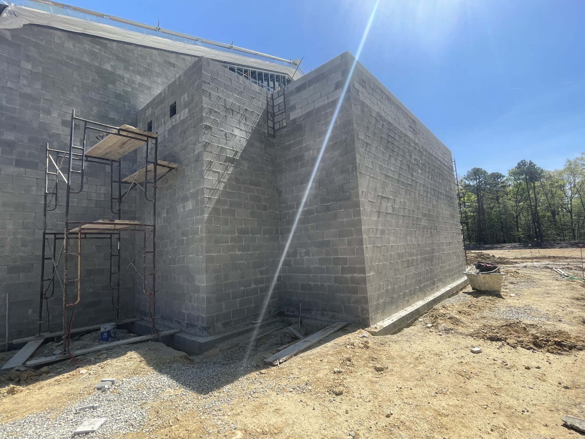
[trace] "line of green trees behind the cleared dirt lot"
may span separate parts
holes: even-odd
[[[585,238],[585,153],[548,171],[521,160],[508,171],[474,167],[459,180],[468,244]]]

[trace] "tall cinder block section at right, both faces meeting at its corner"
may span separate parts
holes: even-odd
[[[281,246],[349,53],[284,88],[277,132]],[[353,73],[282,271],[284,310],[374,324],[464,270],[451,153],[361,64]]]

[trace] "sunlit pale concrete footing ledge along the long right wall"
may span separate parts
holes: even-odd
[[[385,318],[376,325],[372,325],[370,328],[366,328],[366,331],[370,332],[371,335],[393,334],[411,323],[411,321],[419,318],[436,304],[462,290],[467,284],[469,284],[467,277],[462,277],[456,282],[450,283],[448,286],[436,291],[436,293],[431,294],[431,296],[425,297],[425,299],[413,303],[411,306],[404,308],[404,310],[392,314],[390,317]]]

